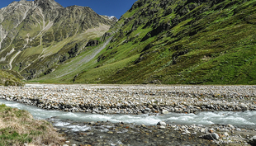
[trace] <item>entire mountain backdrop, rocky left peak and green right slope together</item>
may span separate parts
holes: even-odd
[[[117,22],[40,2],[0,12],[2,67],[30,82],[256,84],[256,1],[138,0]]]

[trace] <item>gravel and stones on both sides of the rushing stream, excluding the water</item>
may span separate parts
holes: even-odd
[[[26,87],[0,87],[0,98],[46,110],[92,114],[256,111],[256,86],[27,84]],[[49,120],[55,123],[54,118]],[[256,135],[255,130],[233,125],[172,125],[160,121],[154,126],[108,121],[68,122],[88,127],[83,132],[57,127],[70,144],[77,145],[254,145]]]

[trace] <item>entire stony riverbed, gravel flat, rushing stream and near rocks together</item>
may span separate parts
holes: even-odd
[[[26,85],[0,97],[45,109],[68,145],[254,145],[255,88]]]

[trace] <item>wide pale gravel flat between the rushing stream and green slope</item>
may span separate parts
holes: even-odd
[[[256,111],[255,96],[255,86],[27,84],[0,87],[0,98],[8,101],[47,110],[94,114]]]

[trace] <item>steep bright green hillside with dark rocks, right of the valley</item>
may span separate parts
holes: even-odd
[[[255,24],[255,0],[139,0],[91,64],[55,82],[256,84]]]

